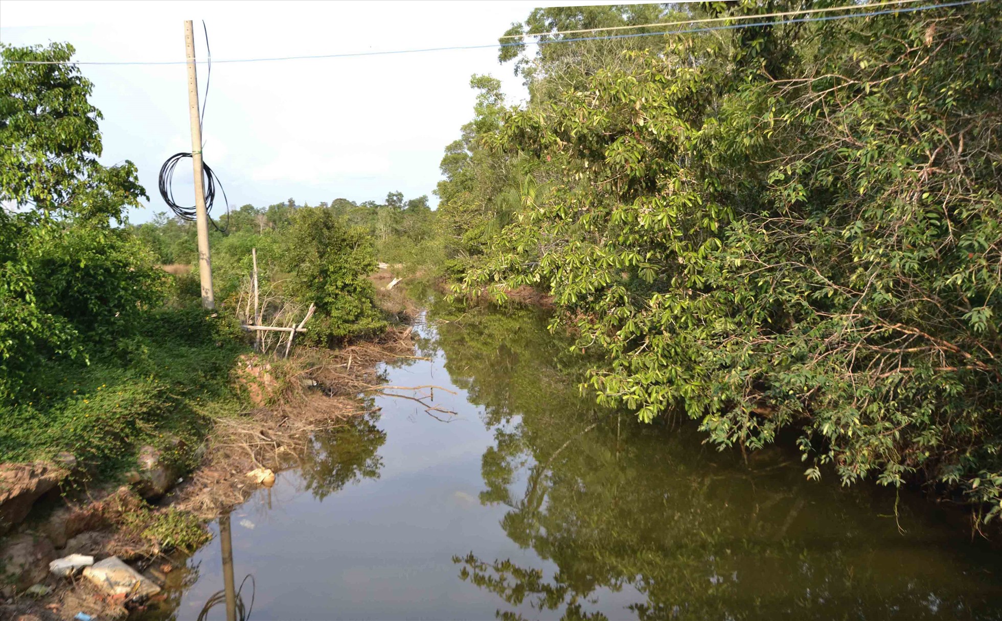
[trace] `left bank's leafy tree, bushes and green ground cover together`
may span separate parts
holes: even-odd
[[[69,452],[107,475],[152,445],[190,466],[177,446],[201,442],[213,409],[238,407],[239,331],[196,301],[163,306],[169,276],[125,226],[145,192],[131,162],[98,163],[91,90],[71,64],[0,65],[0,463]]]

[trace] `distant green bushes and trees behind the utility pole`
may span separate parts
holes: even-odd
[[[290,198],[263,208],[245,204],[228,217],[220,216],[218,224],[209,234],[216,298],[233,307],[239,295],[246,294],[252,250],[257,248],[261,281],[270,292],[304,309],[317,304],[308,336],[315,344],[330,345],[385,328],[368,279],[377,270],[377,258],[392,264],[398,274],[441,263],[435,212],[427,196],[405,200],[401,192],[390,192],[384,204],[337,198],[317,206]],[[197,274],[191,269],[197,257],[193,222],[157,213],[131,230],[161,263],[179,273],[177,296],[199,295]]]

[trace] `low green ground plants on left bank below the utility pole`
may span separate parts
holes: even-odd
[[[151,312],[138,334],[89,366],[50,363],[19,403],[0,408],[0,463],[69,452],[111,476],[152,445],[179,466],[203,439],[210,415],[241,403],[229,372],[245,348],[231,322],[198,307]],[[177,450],[172,439],[187,450]]]

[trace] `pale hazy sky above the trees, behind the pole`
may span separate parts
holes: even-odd
[[[0,40],[66,41],[76,60],[184,60],[183,20],[200,20],[213,60],[496,43],[540,2],[0,2]],[[601,4],[547,2],[548,5]],[[131,159],[150,196],[131,219],[166,209],[156,175],[189,151],[186,70],[82,66],[103,113],[102,163]],[[290,196],[303,204],[337,197],[432,194],[443,147],[472,115],[473,73],[500,78],[512,103],[525,97],[496,49],[356,58],[215,63],[204,119],[204,156],[231,206]],[[199,86],[205,67],[198,66]],[[202,91],[203,92],[203,91]],[[175,175],[191,193],[190,166]],[[178,168],[178,172],[181,169]],[[213,209],[213,213],[221,206]]]

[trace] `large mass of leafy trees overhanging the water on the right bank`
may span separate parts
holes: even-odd
[[[926,477],[996,514],[1000,41],[987,3],[609,45],[570,75],[537,56],[529,104],[443,160],[443,228],[503,219],[463,288],[552,293],[605,357],[599,401],[642,420],[748,449],[793,427],[811,477]]]

